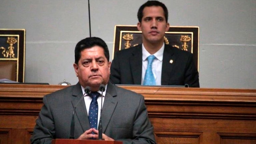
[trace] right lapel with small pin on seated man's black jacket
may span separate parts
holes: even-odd
[[[165,49],[163,51],[161,85],[168,85],[175,59],[176,57],[172,51],[172,47],[165,44]],[[171,60],[173,63],[170,62]]]

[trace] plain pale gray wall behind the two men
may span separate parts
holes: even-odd
[[[160,0],[172,26],[199,26],[202,88],[256,88],[256,0]],[[146,0],[90,0],[91,36],[112,60],[114,26],[137,25]],[[25,82],[78,82],[74,48],[89,37],[88,0],[0,0],[0,28],[26,29]]]

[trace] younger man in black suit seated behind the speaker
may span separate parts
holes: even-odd
[[[165,4],[147,1],[138,11],[138,20],[142,44],[116,52],[110,81],[114,84],[199,87],[192,54],[164,44],[165,32],[170,27]],[[153,57],[152,63],[150,57]]]

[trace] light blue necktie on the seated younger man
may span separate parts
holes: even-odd
[[[156,57],[154,55],[150,55],[147,57],[147,70],[145,73],[143,85],[156,85],[156,80],[152,72],[152,62],[155,58]]]

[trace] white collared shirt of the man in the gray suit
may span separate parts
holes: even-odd
[[[105,91],[103,91],[102,107],[103,107],[103,104],[104,104],[104,99],[105,99],[107,87],[108,87],[108,84],[106,84]],[[81,88],[82,88],[83,95],[84,95],[84,93],[85,93],[84,87],[81,86]],[[99,92],[101,94],[101,91],[97,91],[97,92]],[[87,115],[89,115],[89,107],[90,107],[90,104],[91,104],[91,100],[93,100],[93,99],[91,97],[87,96],[87,95],[84,97],[84,102],[85,102],[85,106],[86,106],[86,110],[87,110]],[[101,96],[98,97],[97,102],[98,102],[98,109],[99,109],[98,110],[98,125],[97,125],[97,127],[98,127],[99,126],[99,121],[100,121],[100,111],[101,111]]]

